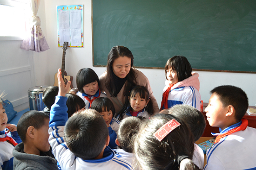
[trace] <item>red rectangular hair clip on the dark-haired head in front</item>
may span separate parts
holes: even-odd
[[[162,127],[160,127],[155,133],[154,136],[157,140],[160,142],[162,139],[164,139],[170,132],[172,132],[176,127],[180,126],[181,124],[175,120],[172,119],[168,121],[166,124],[164,124]]]

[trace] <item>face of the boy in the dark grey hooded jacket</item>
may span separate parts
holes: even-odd
[[[45,119],[45,124],[41,126],[39,129],[35,129],[35,148],[39,151],[49,151],[50,150],[50,144],[48,141],[49,138],[49,119]]]

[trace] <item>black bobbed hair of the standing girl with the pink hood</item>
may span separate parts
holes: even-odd
[[[167,79],[166,72],[168,69],[173,69],[176,71],[178,82],[181,82],[182,80],[192,76],[191,65],[188,59],[184,56],[174,56],[168,59],[164,68],[166,79]]]

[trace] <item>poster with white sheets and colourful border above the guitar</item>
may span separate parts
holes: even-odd
[[[83,5],[57,6],[58,47],[83,47]]]

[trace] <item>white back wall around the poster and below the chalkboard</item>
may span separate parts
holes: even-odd
[[[66,71],[68,75],[76,76],[79,69],[90,67],[100,76],[106,68],[92,66],[92,11],[91,0],[45,0],[46,7],[46,24],[47,24],[47,41],[51,47],[49,53],[49,76],[53,77],[54,73],[61,67],[62,49],[57,47],[57,24],[56,24],[56,6],[57,5],[84,5],[84,48],[68,48],[66,50]],[[122,45],[122,44],[116,44]],[[110,50],[110,49],[109,49]],[[108,54],[106,54],[107,57]],[[178,54],[175,54],[178,55]],[[58,65],[59,64],[59,65]],[[162,89],[164,87],[165,75],[163,69],[140,69],[149,79],[153,93],[158,101],[162,100]],[[219,85],[235,85],[243,88],[248,94],[249,105],[256,104],[256,74],[247,73],[222,73],[196,71],[199,73],[200,94],[204,102],[209,101],[209,91]],[[74,79],[75,80],[75,79]],[[50,81],[54,83],[53,79]],[[76,87],[75,81],[73,85]]]

